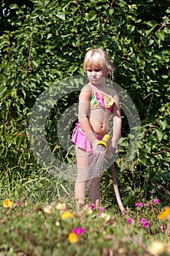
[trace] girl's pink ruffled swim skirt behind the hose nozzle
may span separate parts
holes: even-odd
[[[96,138],[98,140],[101,140],[103,138],[103,135],[96,135]],[[71,140],[72,143],[74,143],[78,148],[81,148],[85,151],[91,151],[91,149],[93,148],[90,140],[88,140],[88,138],[86,137],[85,132],[82,131],[82,127],[79,123],[74,128]]]

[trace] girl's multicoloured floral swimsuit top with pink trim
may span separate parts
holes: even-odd
[[[98,95],[98,92],[94,90],[93,95],[90,99],[90,109],[106,108],[111,113],[114,103],[115,103],[115,101],[114,101],[112,95],[109,94],[109,97],[107,99],[107,103],[105,105],[103,100],[101,99],[101,97]]]

